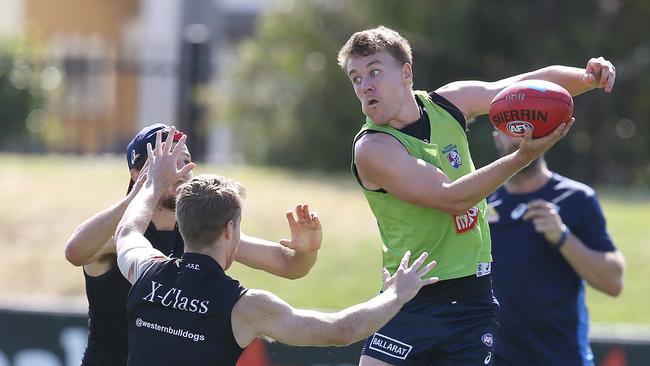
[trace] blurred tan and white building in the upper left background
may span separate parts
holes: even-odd
[[[188,104],[189,86],[198,81],[227,93],[222,77],[256,17],[292,6],[293,0],[0,0],[0,36],[36,30],[54,73],[64,75],[48,109],[55,117],[48,121],[58,121],[52,123],[65,136],[54,150],[121,152],[142,126],[164,122],[197,136],[207,130],[206,140],[194,139],[193,155],[229,163],[228,124],[192,125],[197,108]]]

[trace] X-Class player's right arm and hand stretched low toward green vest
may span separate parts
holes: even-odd
[[[364,339],[386,324],[419,289],[437,278],[422,277],[435,261],[423,265],[423,253],[409,266],[410,252],[392,277],[384,272],[385,291],[371,300],[336,313],[294,309],[270,292],[250,290],[235,304],[233,333],[245,347],[258,335],[295,346],[347,345]]]

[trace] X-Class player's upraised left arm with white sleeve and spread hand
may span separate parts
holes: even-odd
[[[175,127],[171,127],[167,141],[162,144],[162,133],[158,131],[156,148],[152,149],[151,144],[147,144],[149,165],[147,171],[141,173],[146,174],[146,181],[126,208],[115,231],[117,263],[122,275],[131,283],[135,283],[152,261],[166,258],[151,246],[144,233],[162,192],[194,168],[194,163],[185,164],[181,169],[177,168],[176,162],[185,145],[186,135],[183,135],[172,149],[172,136],[175,133]]]

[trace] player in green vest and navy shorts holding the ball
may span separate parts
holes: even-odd
[[[594,58],[584,68],[549,66],[495,82],[414,91],[411,47],[386,27],[352,35],[338,61],[367,117],[354,139],[352,171],[377,219],[384,267],[393,273],[407,250],[429,252],[438,262],[431,275],[440,279],[366,340],[360,364],[493,364],[498,302],[485,197],[563,138],[573,119],[542,138],[527,131],[517,151],[480,169],[466,123],[521,80],[555,82],[574,96],[610,92],[614,66]]]

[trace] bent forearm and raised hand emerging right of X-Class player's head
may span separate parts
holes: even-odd
[[[289,279],[305,276],[316,263],[323,241],[320,220],[308,205],[298,205],[295,212],[287,211],[287,221],[291,240],[274,243],[242,233],[235,260]]]

